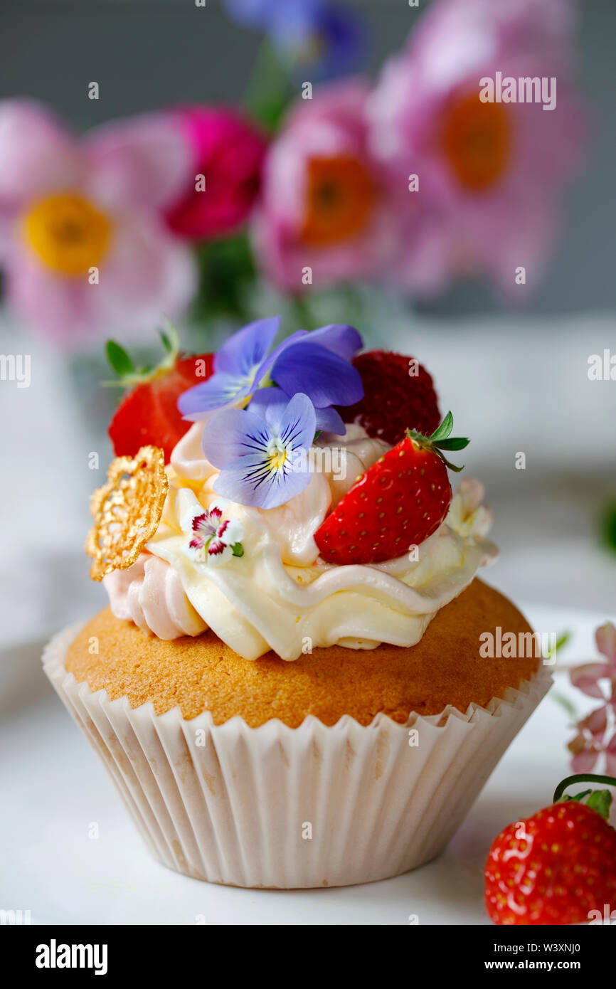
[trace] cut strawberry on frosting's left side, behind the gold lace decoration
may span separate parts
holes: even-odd
[[[145,380],[129,392],[110,422],[116,456],[134,456],[140,446],[151,444],[162,447],[168,463],[174,446],[191,426],[178,411],[178,398],[210,377],[213,360],[213,354],[174,358],[171,367],[152,372],[149,379],[144,375]]]

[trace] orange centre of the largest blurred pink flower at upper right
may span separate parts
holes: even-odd
[[[502,177],[511,154],[509,114],[501,103],[482,103],[479,93],[456,97],[442,123],[441,146],[460,184],[484,192]]]

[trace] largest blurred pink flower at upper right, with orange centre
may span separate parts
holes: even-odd
[[[421,220],[430,256],[418,270],[421,245],[400,250],[395,281],[430,292],[484,274],[513,295],[524,291],[517,267],[527,288],[540,279],[582,141],[571,22],[568,0],[435,0],[386,64],[369,106],[371,149],[398,192],[418,176],[406,226],[416,238]],[[556,107],[482,102],[480,80],[496,72],[556,76]]]

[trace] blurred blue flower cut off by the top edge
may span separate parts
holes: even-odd
[[[225,0],[239,24],[271,38],[292,67],[305,68],[313,82],[354,72],[366,48],[357,10],[330,0]]]

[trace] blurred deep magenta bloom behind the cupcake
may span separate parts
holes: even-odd
[[[194,240],[233,233],[248,217],[261,183],[266,140],[237,112],[222,107],[175,111],[192,149],[192,173],[167,222]],[[197,188],[204,176],[205,189]]]

